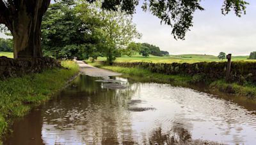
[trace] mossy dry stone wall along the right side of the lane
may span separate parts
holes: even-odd
[[[106,64],[106,62],[101,62]],[[198,62],[157,64],[148,62],[114,62],[113,66],[121,67],[142,67],[151,72],[162,74],[181,74],[186,76],[201,76],[204,81],[214,81],[224,79],[226,75],[227,62]],[[244,83],[252,82],[256,84],[256,62],[232,62],[231,81]]]

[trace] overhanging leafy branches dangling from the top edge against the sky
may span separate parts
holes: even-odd
[[[90,3],[97,0],[87,0]],[[149,10],[152,15],[161,19],[161,24],[167,24],[172,27],[172,34],[175,39],[184,39],[186,32],[193,26],[193,14],[196,10],[204,10],[200,5],[201,0],[144,0],[142,8],[144,11]],[[120,6],[126,13],[135,13],[135,7],[139,0],[104,0],[102,8],[107,10],[117,10]],[[231,10],[237,17],[246,13],[246,5],[249,4],[244,0],[224,0],[221,12],[227,15]]]

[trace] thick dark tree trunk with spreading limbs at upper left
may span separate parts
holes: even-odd
[[[7,2],[0,0],[0,24],[12,32],[14,58],[42,57],[42,17],[51,0]]]

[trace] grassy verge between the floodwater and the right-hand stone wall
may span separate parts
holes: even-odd
[[[102,66],[97,62],[89,63],[92,66],[100,67],[103,69],[108,69],[111,71],[120,72],[125,75],[125,77],[131,78],[137,77],[140,81],[154,81],[157,83],[172,83],[172,85],[180,86],[191,86],[202,84],[211,90],[217,90],[225,93],[232,93],[236,95],[246,96],[248,98],[256,99],[256,86],[251,84],[239,85],[238,83],[225,83],[225,80],[220,79],[217,81],[205,81],[200,78],[200,76],[182,76],[182,75],[166,75],[150,72],[147,69],[142,69],[140,67],[119,67],[119,66]]]

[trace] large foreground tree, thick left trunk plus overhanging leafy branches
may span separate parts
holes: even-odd
[[[42,17],[51,0],[0,0],[0,24],[12,32],[14,57],[41,57],[40,28]],[[66,0],[68,1],[68,0]],[[86,0],[92,3],[96,0]],[[201,0],[145,0],[143,9],[149,9],[162,22],[173,27],[175,38],[184,39],[193,25],[193,13],[204,10]],[[102,8],[116,10],[118,7],[129,14],[134,13],[139,0],[104,0]],[[245,13],[246,1],[224,0],[222,13],[234,10],[237,16]]]

